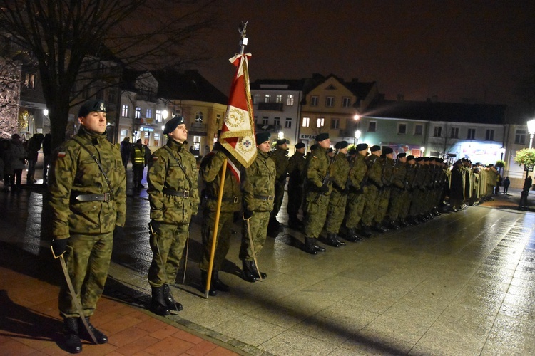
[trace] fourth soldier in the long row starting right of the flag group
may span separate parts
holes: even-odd
[[[360,220],[361,229],[360,234],[362,236],[370,237],[372,232],[370,226],[373,223],[373,219],[377,214],[377,197],[379,195],[379,189],[383,187],[382,182],[382,162],[380,160],[381,147],[374,145],[370,148],[372,155],[367,156],[365,161],[368,167],[367,182],[365,187],[365,206]]]

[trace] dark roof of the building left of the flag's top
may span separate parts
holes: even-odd
[[[153,75],[160,84],[158,96],[161,98],[228,104],[228,97],[200,75],[198,70],[165,70],[153,72]]]

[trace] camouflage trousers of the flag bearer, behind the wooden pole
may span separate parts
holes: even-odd
[[[199,268],[208,271],[210,255],[212,253],[213,229],[215,226],[215,211],[205,208],[203,211],[203,226],[201,234],[203,238],[203,256],[200,259]],[[230,227],[233,226],[233,211],[221,211],[218,223],[218,235],[215,239],[215,253],[213,258],[213,270],[219,271],[230,247]]]

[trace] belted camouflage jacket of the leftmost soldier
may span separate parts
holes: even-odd
[[[78,141],[78,142],[77,142]],[[109,179],[103,177],[96,157]],[[71,234],[103,234],[123,226],[126,215],[126,175],[121,152],[99,135],[81,127],[74,137],[56,149],[49,177],[52,234],[66,239]],[[77,201],[81,194],[111,192],[110,201]]]

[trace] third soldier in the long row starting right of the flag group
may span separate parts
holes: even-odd
[[[350,155],[350,171],[349,179],[347,181],[347,205],[345,209],[345,227],[347,232],[345,239],[347,241],[361,241],[362,238],[357,235],[356,229],[362,218],[362,211],[364,209],[364,187],[367,180],[367,166],[365,157],[368,152],[368,145],[360,143],[355,148],[356,155]]]

